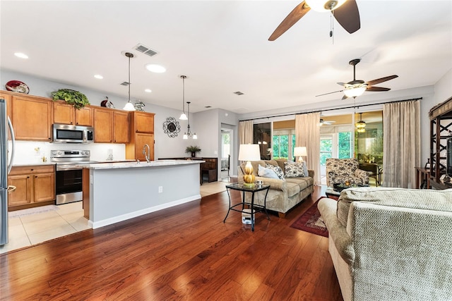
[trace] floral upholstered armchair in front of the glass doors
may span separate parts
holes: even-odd
[[[326,159],[326,185],[343,184],[345,181],[351,184],[369,185],[369,173],[359,169],[357,159]]]

